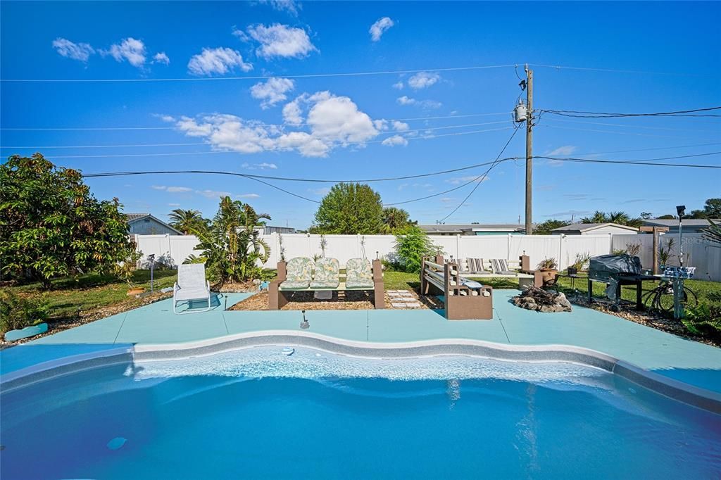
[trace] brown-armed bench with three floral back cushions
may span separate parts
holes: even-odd
[[[383,272],[380,260],[353,258],[340,273],[335,258],[295,257],[278,262],[278,277],[268,286],[268,308],[278,310],[288,303],[286,292],[373,290],[375,308],[384,308]]]

